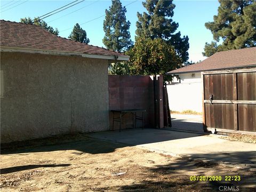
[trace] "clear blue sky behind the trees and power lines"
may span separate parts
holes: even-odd
[[[82,1],[82,0],[79,0]],[[79,2],[78,1],[78,2]],[[19,22],[25,17],[40,17],[73,1],[35,1],[35,0],[10,0],[0,1],[0,18],[3,20]],[[130,33],[134,42],[137,12],[146,12],[142,1],[121,0],[126,6],[126,19],[131,22]],[[205,42],[211,42],[211,31],[205,28],[205,22],[213,21],[217,15],[219,2],[215,1],[181,1],[174,0],[175,4],[173,21],[179,23],[176,32],[189,37],[189,61],[202,61]],[[91,45],[105,47],[102,43],[104,37],[103,20],[105,10],[111,5],[110,0],[83,1],[68,9],[53,14],[43,19],[53,28],[58,28],[59,36],[68,38],[76,23],[86,31]]]

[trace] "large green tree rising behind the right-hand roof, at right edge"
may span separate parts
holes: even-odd
[[[203,55],[210,57],[218,51],[256,46],[256,1],[220,1],[218,15],[205,23],[214,41],[205,43]],[[218,44],[220,42],[221,44]]]

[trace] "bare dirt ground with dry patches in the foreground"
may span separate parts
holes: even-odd
[[[1,152],[2,191],[256,191],[252,171],[91,138]],[[222,181],[190,181],[193,175]]]

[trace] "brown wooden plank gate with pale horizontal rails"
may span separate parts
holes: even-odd
[[[256,134],[256,68],[201,74],[204,130]]]

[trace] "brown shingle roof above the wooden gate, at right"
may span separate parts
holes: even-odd
[[[217,52],[202,62],[169,71],[169,74],[256,66],[256,47]]]

